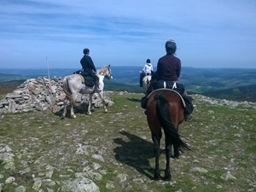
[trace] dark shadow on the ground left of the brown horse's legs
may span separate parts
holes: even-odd
[[[126,142],[127,139],[124,140],[121,137],[113,139],[114,143],[119,144],[118,147],[113,149],[115,159],[136,168],[137,172],[153,179],[154,169],[149,164],[149,159],[154,158],[153,143],[126,131],[121,131],[120,134],[130,141]]]

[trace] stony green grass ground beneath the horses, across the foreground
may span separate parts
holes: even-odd
[[[15,177],[15,183],[34,191],[57,191],[76,173],[94,172],[92,180],[102,192],[254,191],[256,189],[255,109],[207,104],[194,96],[194,119],[183,122],[179,132],[192,151],[171,160],[172,181],[154,181],[154,149],[143,108],[142,94],[108,93],[115,103],[108,113],[96,108],[91,116],[77,112],[77,119],[54,113],[8,113],[0,119],[0,140],[13,150],[15,169],[0,163],[0,183]],[[161,148],[164,148],[164,137]],[[84,151],[83,151],[84,150]],[[78,153],[78,152],[83,153]],[[102,160],[95,160],[101,154]],[[100,165],[100,168],[94,168]],[[163,174],[165,154],[160,156]],[[49,167],[53,174],[49,177]],[[192,172],[200,167],[207,172]],[[235,178],[225,181],[222,174]],[[99,175],[102,176],[99,177]],[[14,191],[4,184],[4,191]]]

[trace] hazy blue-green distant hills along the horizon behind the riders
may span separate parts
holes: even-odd
[[[97,67],[98,68],[98,67]],[[139,87],[139,71],[143,67],[112,66],[113,80],[104,80],[107,90],[126,90],[143,92]],[[0,69],[0,82],[20,79],[47,77],[45,69]],[[78,69],[53,68],[50,77],[65,77]],[[226,98],[232,100],[254,101],[256,97],[256,69],[247,68],[195,68],[183,67],[179,78],[189,93]]]

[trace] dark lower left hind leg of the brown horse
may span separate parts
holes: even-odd
[[[160,179],[160,168],[159,168],[160,138],[161,138],[161,132],[158,134],[152,133],[152,140],[154,143],[154,157],[155,157],[154,179],[156,180]]]

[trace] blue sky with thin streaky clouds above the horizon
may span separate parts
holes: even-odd
[[[183,67],[256,68],[255,0],[0,2],[0,67],[156,66],[174,39]]]

